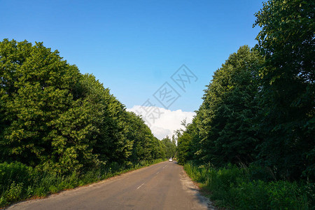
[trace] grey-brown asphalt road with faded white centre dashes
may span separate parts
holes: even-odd
[[[183,167],[160,162],[134,172],[8,209],[208,209]]]

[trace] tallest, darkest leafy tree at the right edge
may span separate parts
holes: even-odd
[[[281,176],[315,178],[314,1],[267,1],[255,14],[265,56],[260,158]]]

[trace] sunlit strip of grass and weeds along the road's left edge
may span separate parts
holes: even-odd
[[[20,162],[3,162],[0,163],[0,209],[14,202],[45,197],[62,190],[85,186],[162,161],[165,160],[141,161],[135,165],[120,165],[113,162],[106,167],[81,173],[72,172],[66,176],[39,172]]]

